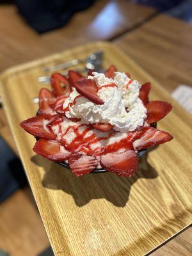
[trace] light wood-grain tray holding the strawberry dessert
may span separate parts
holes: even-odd
[[[35,138],[19,126],[38,109],[31,99],[43,86],[36,78],[45,65],[98,50],[104,51],[104,67],[113,63],[141,83],[151,81],[150,99],[173,104],[158,127],[174,139],[141,159],[132,178],[113,173],[74,177],[37,156]],[[1,95],[55,255],[143,255],[191,223],[191,116],[120,49],[98,42],[11,68],[1,75]]]

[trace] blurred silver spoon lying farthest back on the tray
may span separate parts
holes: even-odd
[[[100,65],[100,63],[102,63],[102,59],[103,59],[103,52],[102,51],[93,52],[87,58],[85,58],[83,60],[74,59],[74,60],[71,60],[71,61],[67,61],[65,63],[61,63],[61,64],[58,64],[58,65],[53,65],[51,67],[45,67],[45,68],[43,68],[43,71],[44,72],[56,71],[56,70],[76,66],[79,63],[86,63],[86,68],[93,69],[97,65]]]

